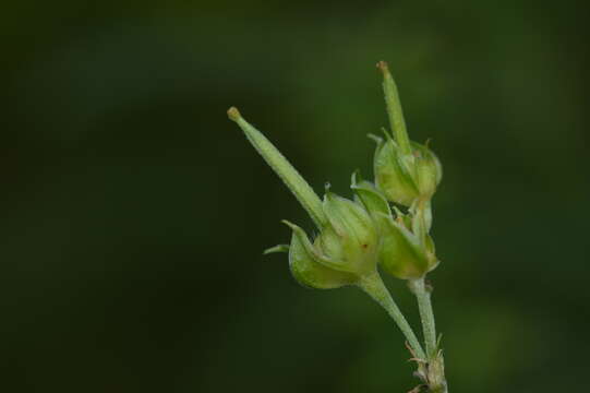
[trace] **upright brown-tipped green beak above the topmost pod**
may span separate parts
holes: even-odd
[[[410,155],[412,150],[410,146],[410,139],[408,138],[408,131],[406,129],[406,120],[404,119],[404,111],[401,110],[401,103],[399,100],[399,93],[397,92],[397,85],[389,72],[387,63],[380,61],[377,67],[383,72],[383,93],[385,94],[385,106],[387,107],[387,115],[389,116],[389,123],[395,134],[395,140],[399,144],[399,148],[404,155]]]

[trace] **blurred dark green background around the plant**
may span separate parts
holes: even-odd
[[[432,138],[451,392],[588,391],[588,7],[578,1],[9,1],[0,385],[406,392],[402,336],[285,255],[311,221],[229,106],[350,195],[387,60]],[[404,283],[388,279],[417,325]],[[418,326],[417,326],[418,329]],[[9,389],[10,386],[10,389]]]

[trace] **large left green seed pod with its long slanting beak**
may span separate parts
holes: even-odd
[[[230,108],[228,116],[240,126],[248,140],[285,181],[320,229],[320,235],[312,243],[303,229],[285,222],[293,230],[291,245],[279,245],[264,253],[289,252],[289,265],[294,278],[313,288],[359,284],[361,278],[374,275],[378,230],[363,205],[327,190],[324,201],[321,201],[287,158],[245,121],[238,109]]]

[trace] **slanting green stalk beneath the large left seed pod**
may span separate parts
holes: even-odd
[[[383,279],[381,279],[378,273],[374,272],[372,274],[363,276],[358,285],[369,296],[371,296],[373,300],[380,303],[385,309],[385,311],[387,311],[387,313],[392,317],[392,319],[401,330],[401,333],[404,333],[404,335],[406,336],[406,340],[412,347],[416,356],[420,359],[425,360],[426,355],[424,354],[424,349],[422,349],[422,346],[420,345],[420,342],[418,341],[412,327],[410,326],[410,324],[397,307],[396,302],[392,298],[389,290],[387,290],[385,284],[383,284]]]

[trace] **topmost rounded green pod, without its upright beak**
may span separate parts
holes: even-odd
[[[443,177],[438,158],[426,146],[411,143],[412,152],[405,155],[390,138],[380,141],[373,168],[375,182],[385,196],[410,206],[417,199],[431,199]]]

